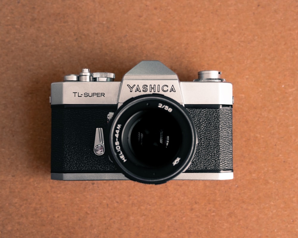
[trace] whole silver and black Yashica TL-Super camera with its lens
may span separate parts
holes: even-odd
[[[114,73],[64,76],[51,85],[51,178],[233,178],[232,84],[219,71],[180,82],[159,61]]]

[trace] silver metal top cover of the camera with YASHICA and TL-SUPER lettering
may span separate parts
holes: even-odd
[[[220,73],[220,71],[200,71],[199,77],[219,79]],[[100,76],[101,73],[94,74]],[[174,90],[171,90],[172,87]],[[99,93],[99,96],[89,96],[93,93]],[[132,97],[152,93],[170,97],[181,105],[233,105],[231,83],[180,82],[176,73],[159,61],[140,62],[123,76],[121,82],[52,83],[51,104],[118,104],[119,108]]]

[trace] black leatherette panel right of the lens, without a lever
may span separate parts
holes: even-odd
[[[232,170],[232,109],[187,108],[198,134],[190,170]]]

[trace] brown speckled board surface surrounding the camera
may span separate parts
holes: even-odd
[[[297,0],[4,0],[0,15],[0,237],[298,237]],[[235,179],[50,180],[51,82],[141,60],[233,83]]]

